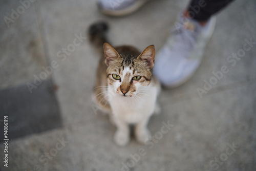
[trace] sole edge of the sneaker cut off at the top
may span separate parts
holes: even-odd
[[[97,3],[97,6],[99,8],[99,11],[104,14],[104,15],[109,15],[109,16],[124,16],[124,15],[129,15],[135,11],[137,11],[140,7],[142,7],[144,4],[149,2],[151,0],[140,0],[134,3],[132,6],[125,8],[123,10],[107,10],[103,9],[99,3]]]

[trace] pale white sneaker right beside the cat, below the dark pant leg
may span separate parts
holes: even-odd
[[[183,16],[180,20],[157,53],[153,70],[167,88],[178,87],[193,76],[216,24],[216,17],[211,17],[205,26]]]

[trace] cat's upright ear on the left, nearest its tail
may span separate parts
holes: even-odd
[[[110,66],[110,63],[116,58],[120,57],[117,51],[107,42],[103,45],[104,54],[105,54],[105,64],[106,66]]]

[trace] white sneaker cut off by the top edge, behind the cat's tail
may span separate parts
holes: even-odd
[[[135,12],[150,0],[99,0],[99,11],[105,15],[123,16]]]

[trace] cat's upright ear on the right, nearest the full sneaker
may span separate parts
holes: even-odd
[[[151,45],[146,47],[144,51],[138,56],[138,59],[145,61],[148,68],[152,69],[155,62],[155,46]]]

